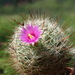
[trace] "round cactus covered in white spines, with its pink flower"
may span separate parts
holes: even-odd
[[[74,48],[69,45],[68,24],[59,25],[43,15],[32,15],[14,29],[8,45],[13,66],[19,75],[69,75],[67,64]]]

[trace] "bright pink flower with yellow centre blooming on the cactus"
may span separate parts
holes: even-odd
[[[22,42],[34,44],[40,38],[42,31],[37,25],[27,25],[26,28],[22,28],[20,38]]]

